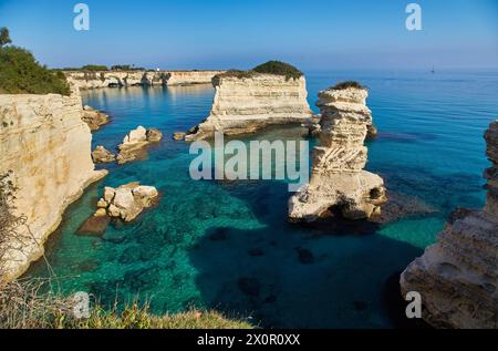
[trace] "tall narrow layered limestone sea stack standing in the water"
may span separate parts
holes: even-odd
[[[313,221],[339,214],[347,219],[380,215],[386,202],[383,179],[363,171],[367,148],[364,141],[372,113],[364,89],[329,89],[319,94],[320,146],[313,151],[310,184],[289,200],[292,221]]]

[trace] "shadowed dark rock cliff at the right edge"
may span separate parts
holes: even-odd
[[[437,328],[498,328],[498,121],[486,133],[488,197],[484,210],[458,209],[437,242],[401,276],[417,291],[423,319]]]

